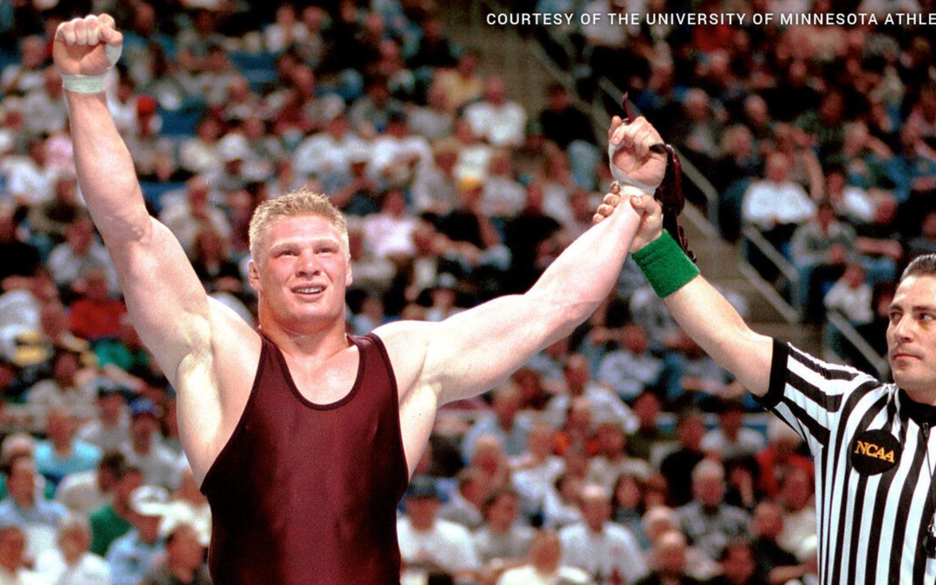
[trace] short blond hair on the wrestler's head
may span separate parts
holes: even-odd
[[[268,199],[260,203],[250,218],[250,228],[247,237],[250,245],[250,255],[255,261],[258,255],[260,242],[270,233],[270,228],[276,222],[297,215],[318,215],[337,227],[341,234],[344,252],[348,250],[348,227],[342,212],[338,211],[329,201],[329,196],[300,190],[288,193],[283,197]]]

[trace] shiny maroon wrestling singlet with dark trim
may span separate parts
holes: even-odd
[[[261,338],[250,398],[201,487],[212,507],[212,580],[399,584],[396,505],[407,472],[383,342],[350,337],[360,356],[354,387],[314,404]]]

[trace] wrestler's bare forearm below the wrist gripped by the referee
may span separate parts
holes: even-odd
[[[559,255],[526,294],[548,307],[550,341],[561,339],[584,321],[607,297],[618,275],[640,216],[629,203],[592,226]]]

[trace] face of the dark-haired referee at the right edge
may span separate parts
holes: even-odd
[[[916,402],[936,404],[936,276],[903,279],[890,305],[887,357],[894,381]]]

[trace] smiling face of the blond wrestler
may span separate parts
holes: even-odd
[[[319,329],[322,320],[344,320],[344,290],[351,260],[338,227],[320,215],[297,215],[270,227],[260,258],[251,263],[251,285],[261,318],[285,329]]]

